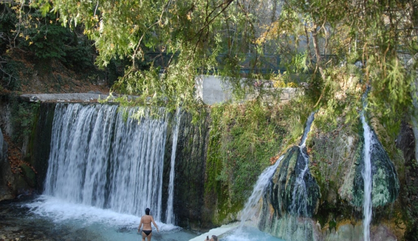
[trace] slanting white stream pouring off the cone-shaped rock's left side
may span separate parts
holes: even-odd
[[[244,226],[246,220],[251,219],[255,216],[257,209],[255,208],[258,202],[261,199],[261,196],[264,194],[267,186],[270,184],[273,174],[276,172],[277,167],[280,164],[283,156],[279,157],[279,160],[276,163],[268,168],[266,168],[257,179],[257,182],[254,185],[251,196],[248,198],[248,201],[245,203],[244,209],[241,214],[241,224],[240,227]]]

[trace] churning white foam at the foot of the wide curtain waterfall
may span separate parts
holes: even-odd
[[[29,207],[30,218],[43,222],[43,227],[55,230],[60,240],[91,241],[140,241],[138,232],[140,217],[121,214],[109,209],[73,204],[65,200],[42,195],[36,200],[23,204]],[[24,220],[23,220],[24,221]],[[33,222],[33,221],[31,221]],[[197,235],[176,227],[156,221],[160,232],[153,227],[152,240],[186,241]]]

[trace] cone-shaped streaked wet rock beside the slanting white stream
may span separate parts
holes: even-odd
[[[294,194],[297,178],[305,167],[299,147],[290,148],[273,175],[270,191],[263,198],[260,230],[282,239],[317,240],[312,222],[299,218],[312,217],[320,198],[319,186],[309,169],[302,181],[306,196]]]

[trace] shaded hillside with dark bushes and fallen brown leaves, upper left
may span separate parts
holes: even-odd
[[[124,60],[95,65],[98,52],[82,26],[63,27],[57,14],[29,7],[17,16],[16,7],[0,2],[0,94],[108,93],[123,75]]]

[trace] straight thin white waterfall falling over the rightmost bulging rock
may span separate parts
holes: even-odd
[[[370,241],[370,222],[372,221],[372,165],[371,152],[373,145],[373,136],[369,125],[361,113],[361,122],[364,129],[364,203],[363,203],[363,237],[364,241]]]

